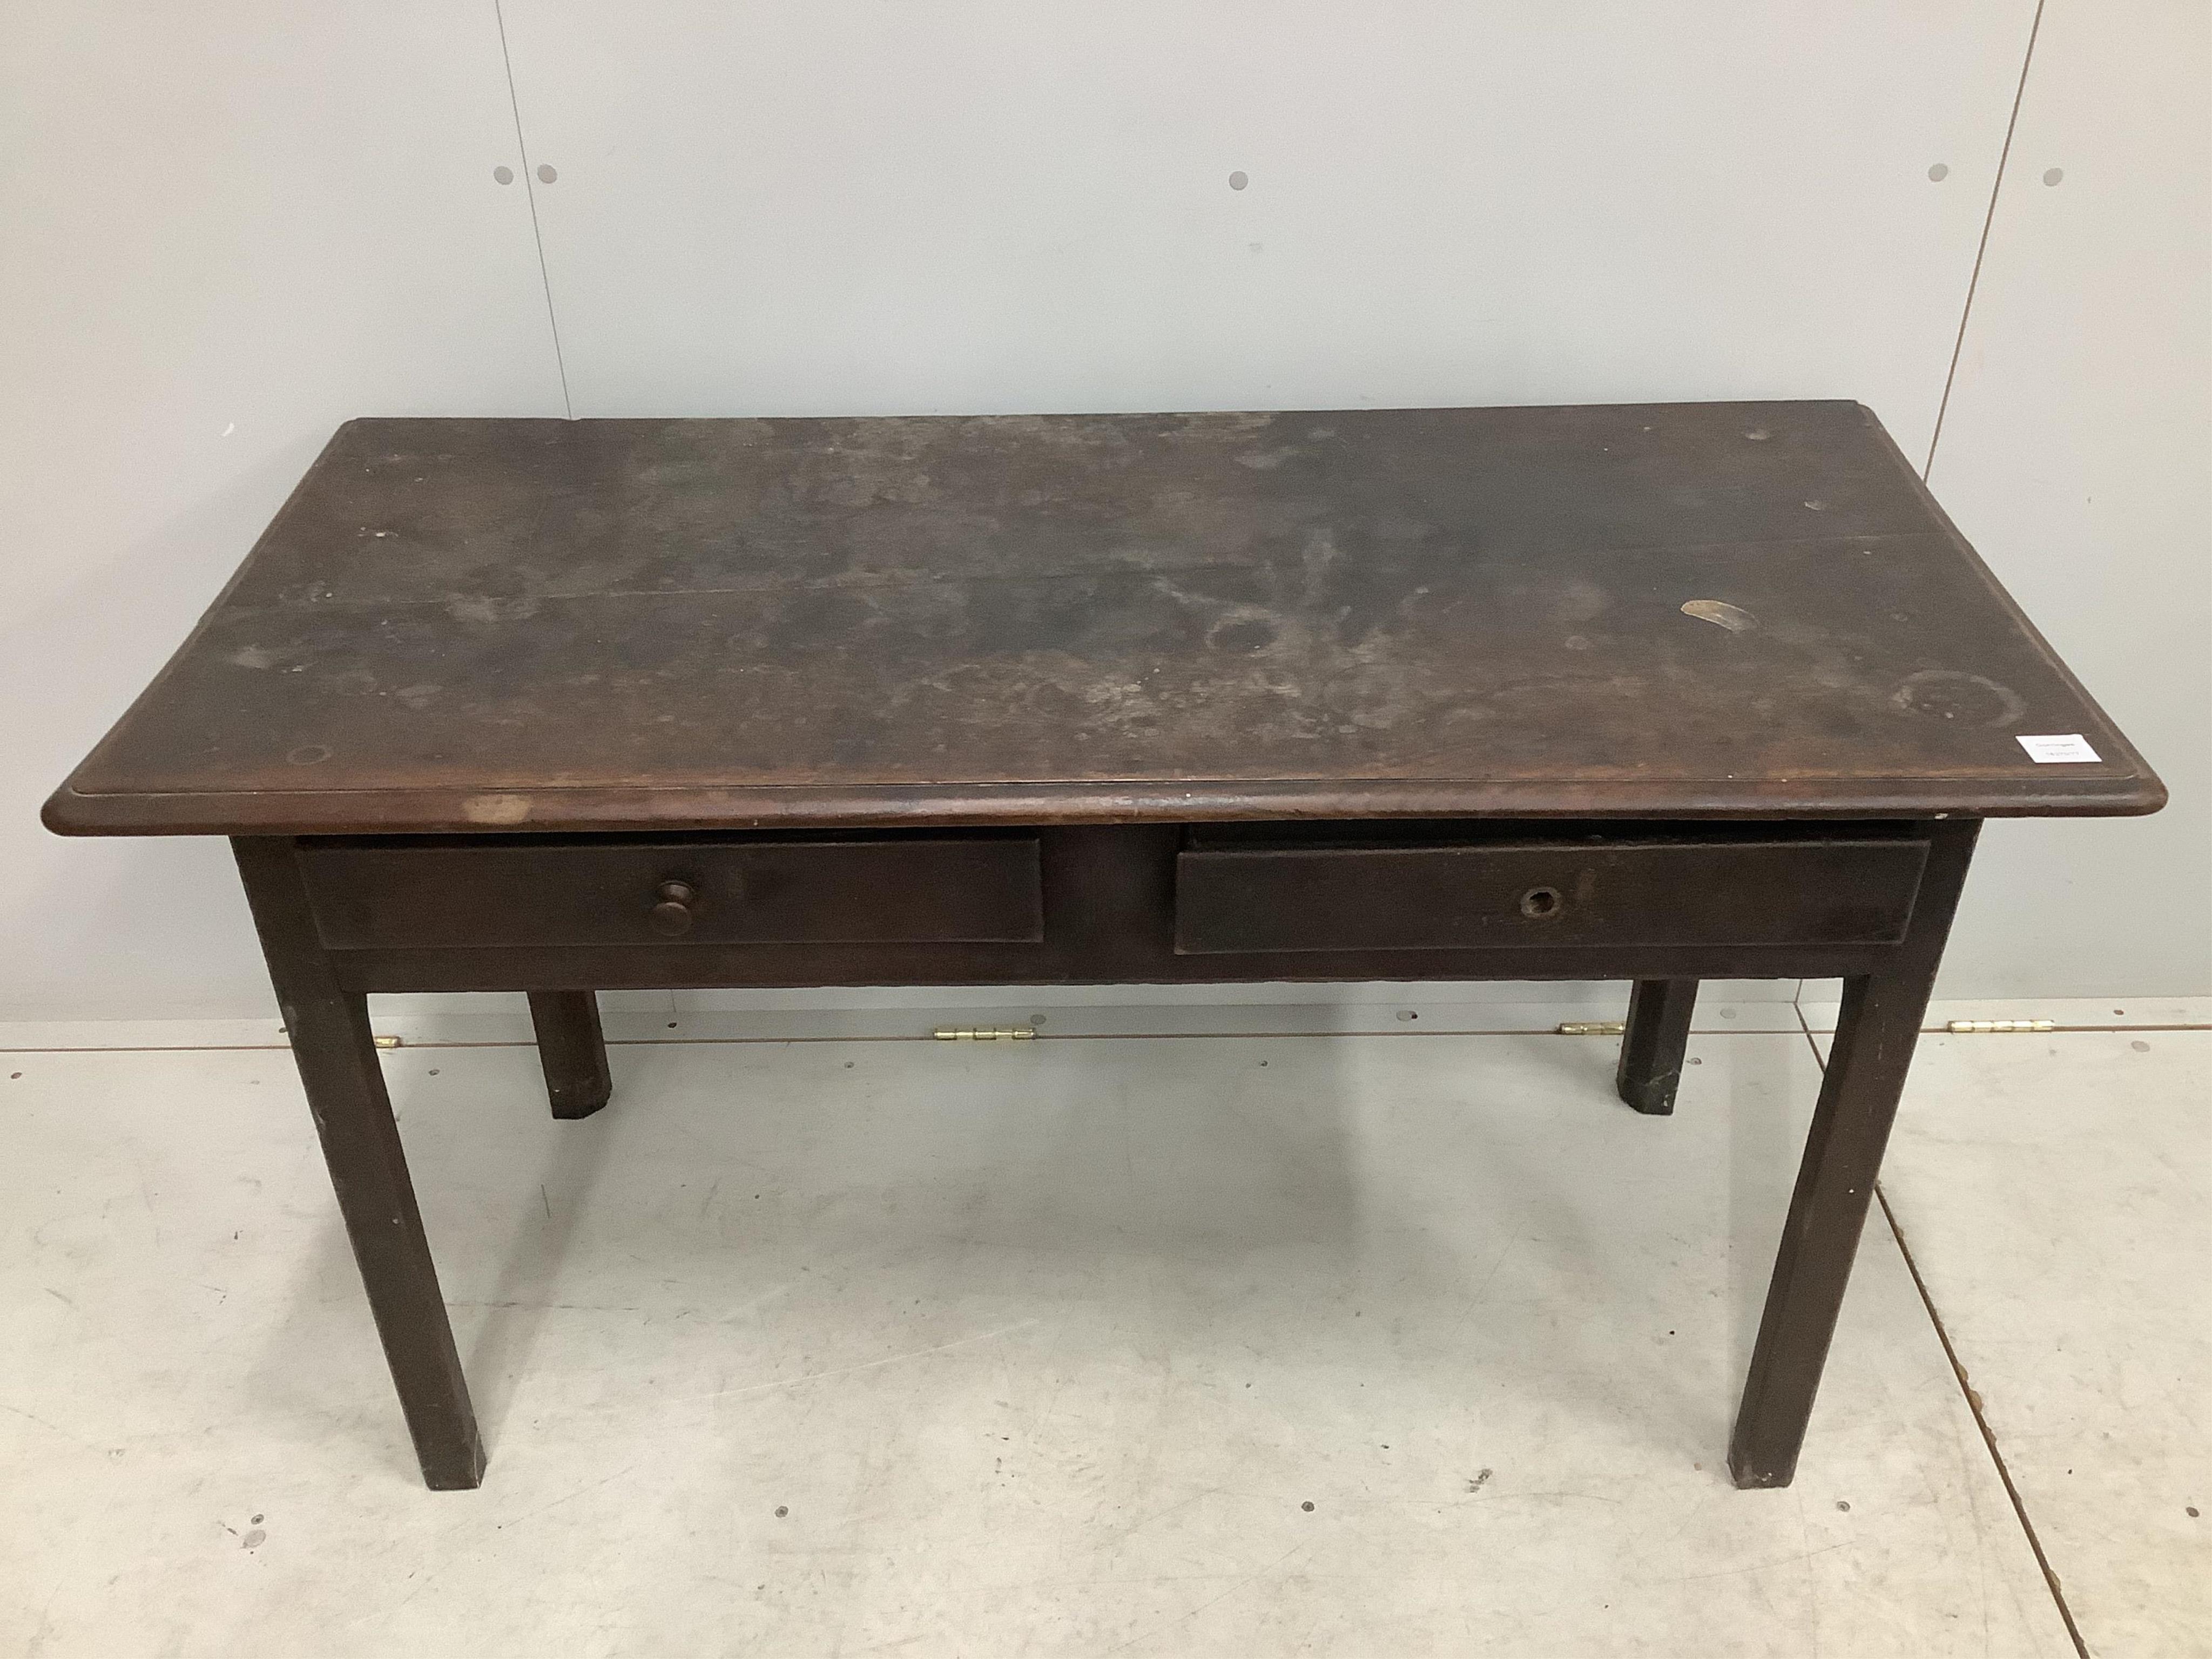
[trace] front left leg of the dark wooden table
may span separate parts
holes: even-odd
[[[476,1486],[484,1442],[385,1095],[367,998],[338,982],[314,933],[292,843],[232,845],[422,1482],[434,1491]]]

